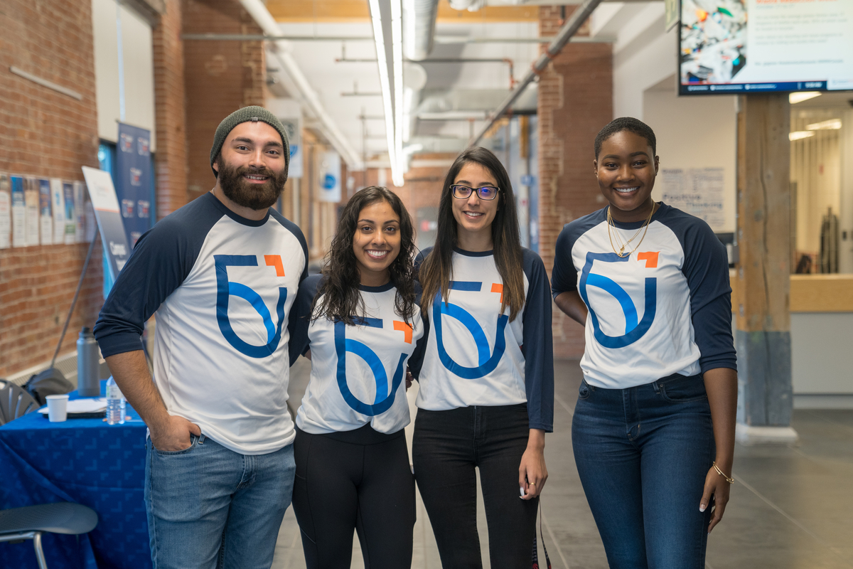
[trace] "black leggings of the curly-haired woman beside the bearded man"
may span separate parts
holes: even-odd
[[[403,431],[369,425],[313,435],[296,429],[293,512],[309,569],[349,569],[352,531],[367,569],[412,564],[415,480]]]

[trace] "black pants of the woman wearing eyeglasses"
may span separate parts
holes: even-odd
[[[530,434],[527,405],[418,409],[415,479],[444,569],[483,566],[477,534],[479,467],[493,569],[531,566],[538,498],[519,495],[519,466]]]

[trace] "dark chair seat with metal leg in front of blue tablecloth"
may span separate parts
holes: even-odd
[[[96,525],[98,514],[95,510],[72,502],[0,510],[0,542],[19,543],[32,539],[38,566],[40,569],[47,569],[42,549],[44,532],[76,536],[89,533]]]

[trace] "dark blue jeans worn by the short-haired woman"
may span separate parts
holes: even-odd
[[[612,569],[702,569],[716,455],[700,375],[628,389],[581,383],[572,419],[577,472]]]

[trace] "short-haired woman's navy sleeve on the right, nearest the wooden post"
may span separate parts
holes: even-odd
[[[684,249],[682,272],[690,288],[690,314],[702,373],[716,368],[737,369],[726,247],[700,220],[686,225],[683,231],[676,230],[676,234]]]

